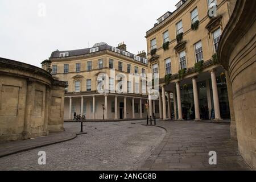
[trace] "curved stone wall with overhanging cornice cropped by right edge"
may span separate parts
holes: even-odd
[[[234,7],[234,11],[233,11]],[[256,1],[232,1],[233,11],[222,34],[218,58],[228,71],[238,147],[256,169]]]

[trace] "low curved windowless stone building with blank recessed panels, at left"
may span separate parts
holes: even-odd
[[[65,82],[49,72],[0,58],[0,140],[63,131]]]

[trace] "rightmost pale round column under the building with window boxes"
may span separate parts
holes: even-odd
[[[213,92],[213,104],[214,104],[214,113],[216,121],[222,120],[220,116],[220,104],[218,102],[218,88],[217,88],[217,81],[215,71],[210,71],[210,77],[212,78],[212,92]]]

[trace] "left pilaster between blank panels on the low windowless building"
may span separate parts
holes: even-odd
[[[30,121],[32,110],[34,108],[35,100],[35,83],[33,80],[27,80],[27,96],[26,96],[26,110],[25,110],[25,119],[23,126],[23,138],[30,138]]]

